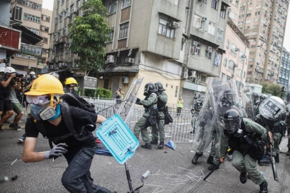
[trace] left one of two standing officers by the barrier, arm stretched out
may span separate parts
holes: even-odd
[[[136,104],[143,105],[145,108],[145,112],[143,116],[138,120],[138,122],[134,126],[134,135],[136,138],[139,138],[139,134],[141,132],[141,136],[144,145],[141,145],[143,148],[151,149],[150,137],[147,131],[147,127],[156,125],[156,115],[157,115],[157,90],[155,88],[155,84],[152,82],[147,83],[144,89],[144,100],[140,100],[137,98]]]

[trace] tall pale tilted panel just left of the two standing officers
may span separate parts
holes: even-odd
[[[124,102],[121,103],[120,108],[116,112],[120,117],[124,120],[124,122],[130,127],[130,123],[133,121],[135,116],[131,116],[134,114],[132,111],[134,108],[134,105],[136,103],[138,94],[140,92],[140,86],[142,85],[144,81],[144,78],[142,79],[136,79],[134,78],[129,90],[124,98]],[[131,128],[131,127],[130,127]],[[132,128],[131,128],[132,129]]]

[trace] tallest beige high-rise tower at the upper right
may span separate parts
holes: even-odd
[[[277,84],[289,1],[236,2],[238,12],[230,17],[238,15],[238,27],[250,42],[246,82]]]

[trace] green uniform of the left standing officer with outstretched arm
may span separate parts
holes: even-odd
[[[157,108],[157,95],[156,93],[151,93],[149,97],[145,97],[144,100],[140,100],[139,102],[136,102],[136,104],[143,105],[145,108],[148,107],[148,109],[150,109],[151,107]],[[146,126],[146,120],[149,115],[150,113],[146,110],[143,116],[135,124],[133,130],[134,135],[137,139],[139,138],[139,134],[141,132],[142,139],[145,143],[150,143],[151,141]]]

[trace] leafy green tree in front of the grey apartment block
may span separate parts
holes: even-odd
[[[87,0],[80,8],[83,15],[77,16],[69,27],[72,39],[69,49],[78,55],[75,61],[85,75],[90,70],[101,69],[105,56],[105,42],[108,40],[109,28],[107,9],[101,0]]]

